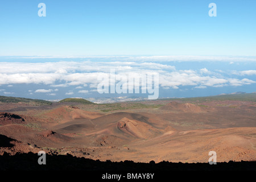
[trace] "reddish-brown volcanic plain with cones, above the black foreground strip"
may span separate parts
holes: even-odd
[[[23,111],[19,104],[15,111],[9,105],[14,112],[0,113],[0,134],[13,140],[0,146],[0,154],[46,150],[102,161],[207,163],[209,151],[216,151],[218,162],[256,160],[255,105],[223,103],[168,102],[112,113],[96,106],[24,106]]]

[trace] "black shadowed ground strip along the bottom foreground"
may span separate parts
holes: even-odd
[[[47,155],[46,164],[38,164],[40,156],[32,152],[27,154],[0,156],[1,171],[256,171],[256,162],[224,162],[210,165],[209,163],[134,163],[101,162],[72,155]]]

